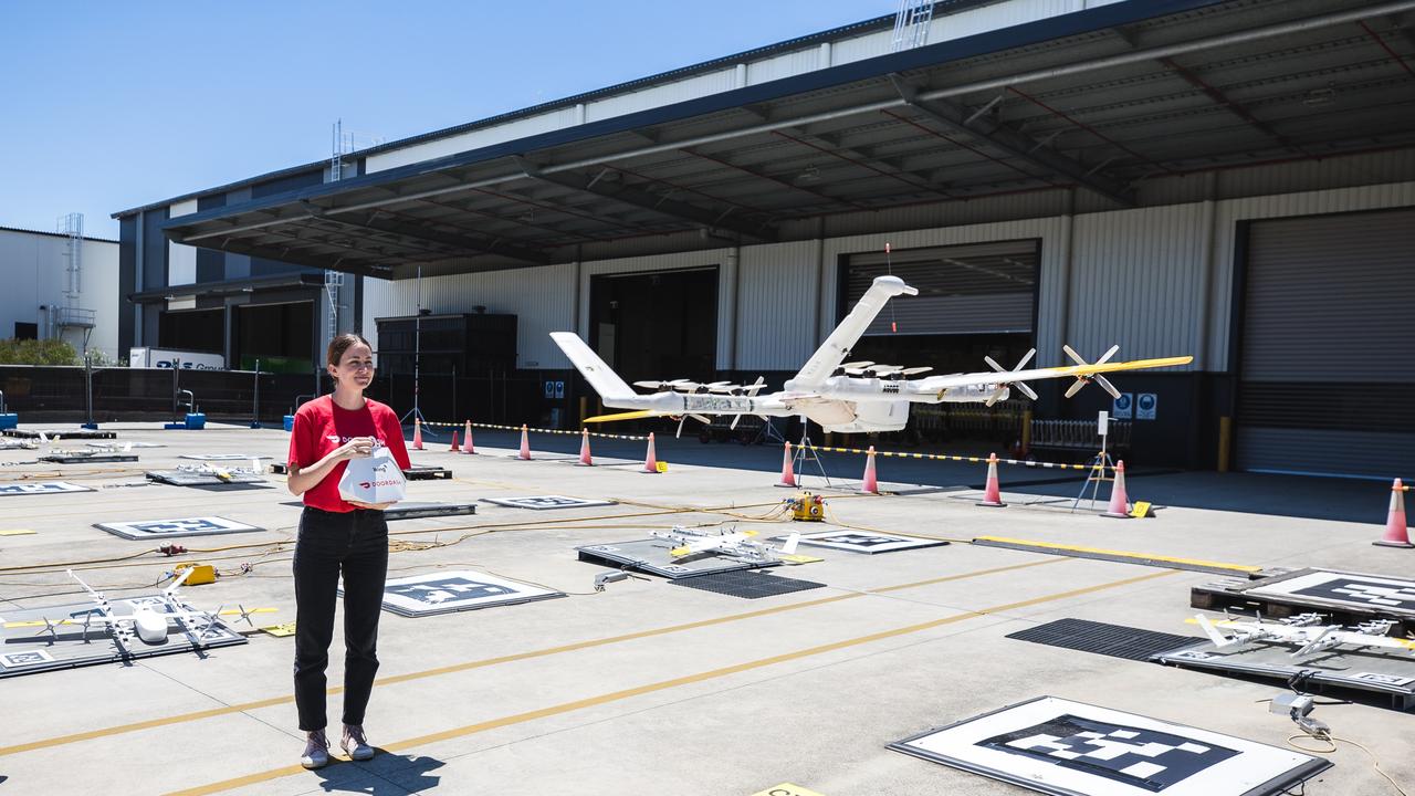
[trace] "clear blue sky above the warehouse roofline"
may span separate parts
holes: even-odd
[[[0,0],[0,227],[113,211],[730,55],[896,0]]]

